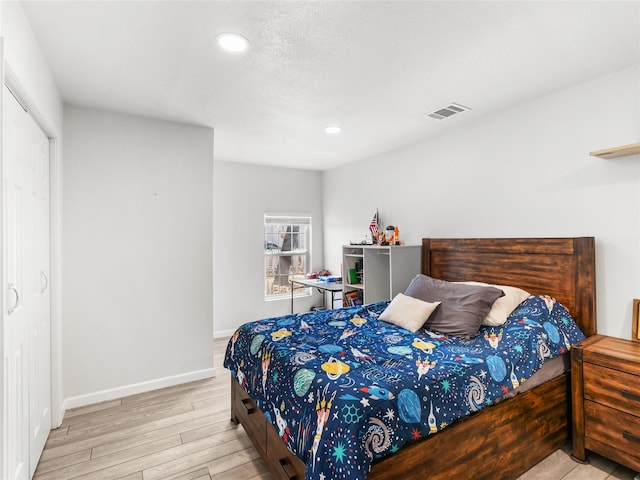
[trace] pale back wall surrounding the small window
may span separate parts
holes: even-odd
[[[225,336],[245,322],[291,309],[289,299],[264,300],[265,213],[310,213],[312,269],[323,267],[322,175],[219,160],[213,168],[213,325],[215,336]],[[296,299],[295,311],[320,303],[314,293]]]

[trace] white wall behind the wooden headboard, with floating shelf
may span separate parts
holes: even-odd
[[[364,238],[376,207],[414,244],[594,236],[599,332],[629,338],[640,297],[640,158],[588,152],[640,140],[638,85],[640,68],[627,69],[325,172],[328,267],[339,266],[340,245]],[[349,191],[346,208],[334,193]]]

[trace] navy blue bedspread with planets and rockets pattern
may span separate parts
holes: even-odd
[[[306,480],[366,479],[374,459],[491,405],[584,339],[548,296],[471,340],[378,320],[387,304],[251,322],[229,341],[224,366]]]

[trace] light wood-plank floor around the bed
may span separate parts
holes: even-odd
[[[242,427],[229,420],[227,340],[214,341],[217,378],[67,411],[35,480],[270,480]],[[558,450],[521,479],[633,479],[634,472],[596,455],[579,465],[569,451]]]

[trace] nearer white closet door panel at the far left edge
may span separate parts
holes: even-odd
[[[5,294],[3,313],[4,351],[4,475],[18,480],[29,478],[29,309],[25,292],[31,241],[25,217],[30,210],[26,113],[11,93],[3,92],[3,218]],[[26,224],[25,224],[26,223]]]

